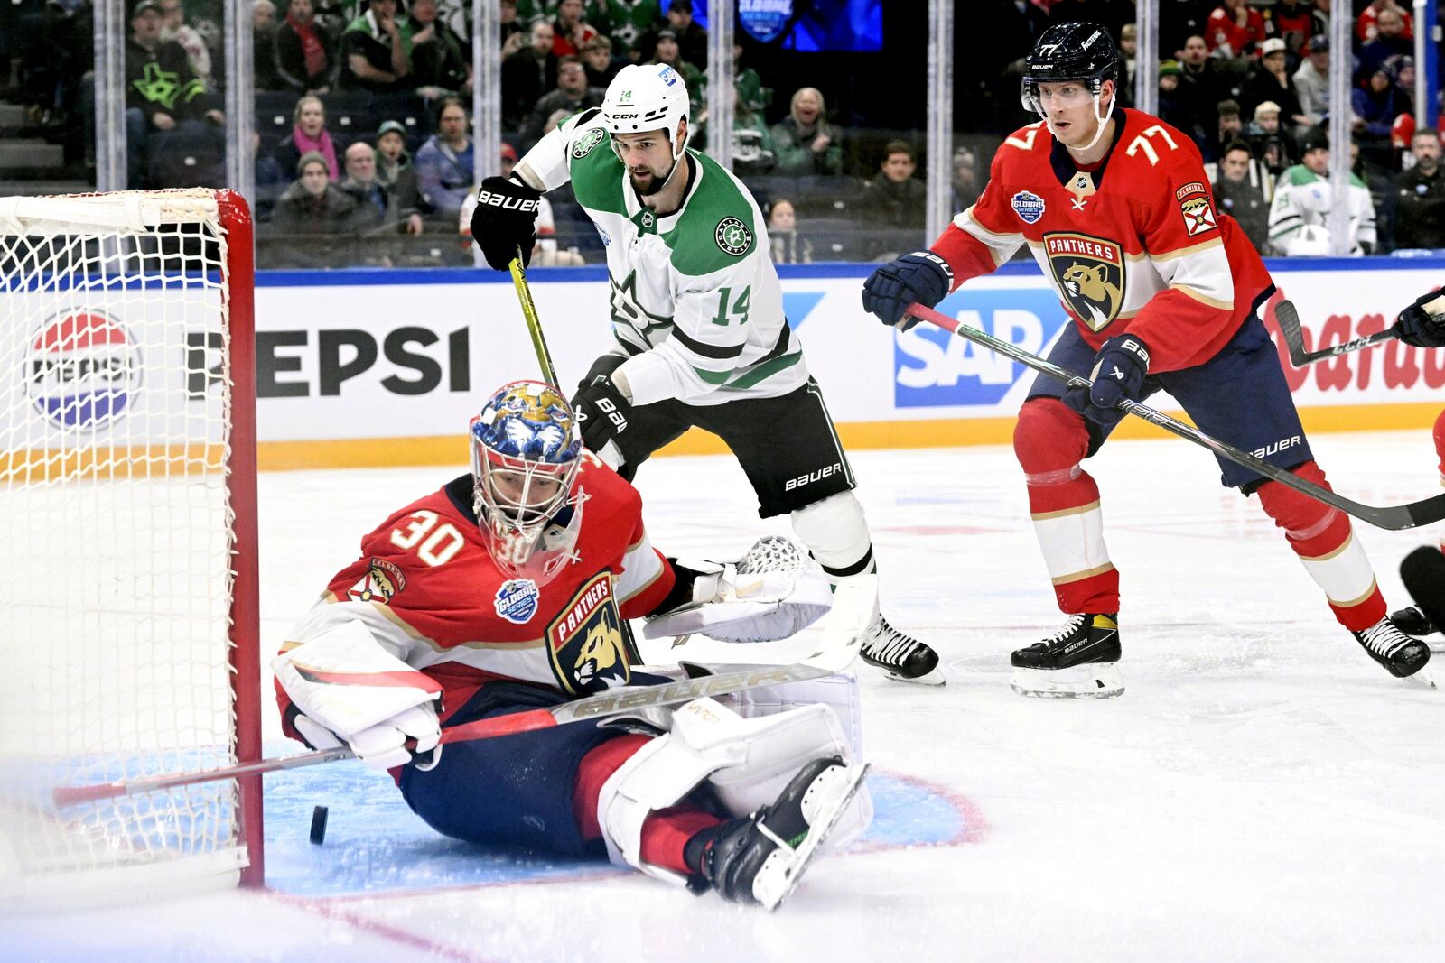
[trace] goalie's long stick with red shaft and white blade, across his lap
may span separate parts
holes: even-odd
[[[715,676],[683,679],[665,686],[620,686],[595,696],[564,702],[548,709],[526,709],[523,712],[491,716],[442,729],[441,742],[445,745],[449,742],[470,742],[473,739],[493,739],[517,732],[551,729],[572,722],[601,722],[614,716],[636,713],[639,709],[675,706],[692,702],[694,699],[702,699],[704,696],[727,696],[734,692],[746,692],[763,686],[780,686],[790,681],[835,676],[845,670],[858,654],[858,645],[863,642],[868,625],[873,624],[877,609],[877,576],[857,576],[838,586],[832,609],[824,616],[824,621],[828,624],[824,625],[819,622],[821,628],[816,629],[819,648],[802,661],[789,666],[754,666]],[[321,749],[318,752],[298,752],[296,755],[207,770],[204,772],[184,772],[149,780],[100,783],[95,785],[58,785],[52,790],[51,797],[55,806],[66,807],[79,803],[98,803],[121,796],[139,796],[178,785],[234,780],[243,775],[260,775],[282,770],[299,770],[308,765],[337,762],[354,757],[355,754],[344,746],[338,749]]]

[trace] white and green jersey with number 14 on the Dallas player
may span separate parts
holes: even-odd
[[[805,384],[802,344],[783,318],[763,215],[747,188],[689,150],[695,173],[682,208],[659,218],[637,199],[597,114],[562,121],[516,172],[540,191],[571,180],[597,225],[633,403],[722,404]]]

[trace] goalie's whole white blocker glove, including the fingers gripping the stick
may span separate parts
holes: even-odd
[[[338,625],[272,660],[312,749],[351,748],[377,770],[441,759],[442,687],[381,648],[358,621]],[[413,741],[409,744],[409,741]]]

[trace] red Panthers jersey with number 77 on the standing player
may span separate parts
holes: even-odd
[[[961,284],[1027,244],[1091,347],[1131,331],[1149,345],[1150,371],[1189,368],[1274,286],[1244,231],[1214,208],[1194,141],[1149,114],[1114,118],[1110,152],[1087,167],[1042,120],[1014,131],[978,204],[932,250]]]

